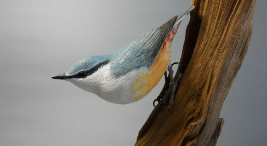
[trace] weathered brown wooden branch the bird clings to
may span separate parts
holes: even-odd
[[[180,64],[188,63],[171,112],[158,105],[135,146],[215,146],[223,102],[252,36],[257,0],[192,0]]]

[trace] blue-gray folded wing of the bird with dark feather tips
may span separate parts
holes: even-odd
[[[177,16],[173,17],[159,28],[152,29],[115,52],[110,58],[112,74],[120,77],[141,67],[149,69],[172,31],[176,18]]]

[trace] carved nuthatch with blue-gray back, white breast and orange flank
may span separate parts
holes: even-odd
[[[173,88],[171,44],[182,18],[194,6],[160,27],[153,28],[112,55],[97,55],[76,62],[67,73],[53,79],[70,81],[115,104],[129,104],[146,96],[169,70],[167,86]],[[167,78],[168,79],[168,78]],[[166,91],[163,90],[164,93]],[[172,91],[170,94],[173,96]],[[156,99],[159,101],[162,93]],[[173,100],[173,97],[172,97]]]

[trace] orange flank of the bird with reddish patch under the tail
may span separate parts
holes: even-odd
[[[165,73],[172,58],[171,44],[172,39],[178,29],[177,25],[168,35],[165,42],[163,43],[159,54],[153,66],[147,73],[140,72],[138,77],[134,80],[129,91],[134,95],[133,100],[139,100],[146,96],[160,81],[163,74]]]

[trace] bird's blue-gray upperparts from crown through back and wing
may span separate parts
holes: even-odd
[[[76,62],[67,74],[76,77],[77,73],[83,71],[87,75],[91,75],[99,67],[108,63],[111,64],[112,75],[117,78],[141,67],[149,69],[169,32],[172,31],[176,18],[177,16],[159,28],[152,29],[112,55],[91,56]]]

